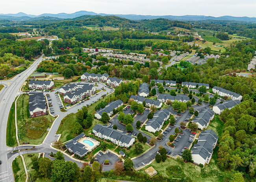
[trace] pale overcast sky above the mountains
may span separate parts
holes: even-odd
[[[256,17],[256,0],[1,0],[0,13],[205,15]]]

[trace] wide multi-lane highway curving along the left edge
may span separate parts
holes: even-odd
[[[14,76],[10,80],[1,81],[1,83],[7,87],[4,87],[0,92],[0,160],[2,161],[2,164],[0,165],[0,182],[14,182],[13,171],[11,168],[12,161],[9,161],[7,155],[7,153],[11,152],[13,149],[6,146],[6,127],[11,105],[14,102],[15,97],[20,94],[19,89],[23,82],[37,68],[42,61],[43,56],[44,55],[41,55],[28,69],[19,75]]]

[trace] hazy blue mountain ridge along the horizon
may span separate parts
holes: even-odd
[[[26,13],[17,13],[17,14],[0,14],[0,19],[2,20],[12,20],[12,21],[27,21],[27,20],[33,20],[33,18],[38,17],[55,17],[55,18],[62,18],[62,19],[68,19],[68,18],[76,18],[83,15],[101,15],[101,16],[119,16],[121,18],[127,18],[130,20],[152,20],[157,18],[165,18],[169,20],[182,20],[182,21],[200,21],[200,20],[233,20],[233,21],[245,21],[245,22],[256,22],[255,17],[236,17],[236,16],[202,16],[202,15],[184,15],[184,16],[172,16],[172,15],[165,15],[165,16],[152,16],[152,15],[115,15],[115,14],[104,14],[104,13],[94,13],[91,11],[78,11],[75,13],[58,13],[58,14],[51,14],[51,13],[44,13],[42,15],[27,15]],[[22,17],[22,18],[20,18]]]

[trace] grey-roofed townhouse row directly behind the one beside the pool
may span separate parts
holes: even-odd
[[[123,104],[124,103],[120,99],[116,100],[116,101],[111,101],[108,103],[108,105],[106,107],[101,108],[100,110],[97,110],[94,116],[99,120],[101,118],[102,114],[105,112],[110,117],[111,115],[113,115],[113,109],[117,109],[118,107],[122,106]]]

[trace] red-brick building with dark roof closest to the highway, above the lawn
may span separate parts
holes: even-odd
[[[30,93],[28,110],[31,118],[47,115],[45,95],[43,93]]]

